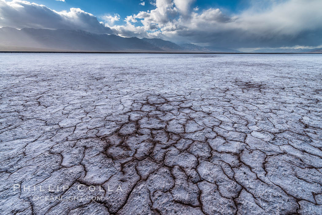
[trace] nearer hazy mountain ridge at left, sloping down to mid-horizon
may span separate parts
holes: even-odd
[[[1,45],[47,48],[73,51],[117,51],[143,49],[162,51],[137,37],[125,38],[117,35],[95,34],[80,30],[48,30],[6,27],[0,29]]]

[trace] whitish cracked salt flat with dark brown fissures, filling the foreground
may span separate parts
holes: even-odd
[[[0,60],[1,214],[322,214],[321,55]]]

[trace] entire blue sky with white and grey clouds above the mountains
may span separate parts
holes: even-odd
[[[0,27],[77,29],[233,49],[322,46],[322,0],[0,0]]]

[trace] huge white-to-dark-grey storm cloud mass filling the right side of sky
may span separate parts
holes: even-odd
[[[135,27],[131,22],[123,26],[113,26],[120,35],[128,36],[130,32],[142,30],[151,23],[160,30],[144,36],[159,37],[174,42],[208,43],[214,46],[229,48],[245,47],[292,47],[319,46],[322,44],[322,8],[321,0],[289,0],[272,1],[255,4],[248,10],[236,15],[226,15],[220,9],[194,12],[187,11],[184,16],[168,19],[159,11],[176,9],[172,4],[162,4],[156,0],[156,9],[150,12],[140,12],[133,17],[141,21],[142,26]],[[160,5],[160,6],[158,6]],[[167,6],[166,6],[167,5]],[[180,10],[178,11],[180,15]],[[144,15],[144,16],[143,16]],[[139,31],[137,31],[139,32]]]

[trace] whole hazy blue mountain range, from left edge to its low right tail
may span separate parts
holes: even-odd
[[[139,39],[81,30],[0,28],[0,51],[134,51],[134,52],[240,52],[226,48],[178,45],[162,39]]]

